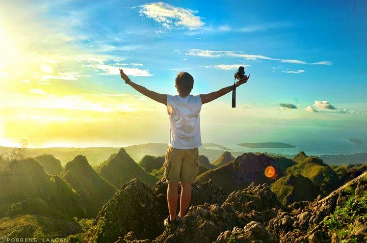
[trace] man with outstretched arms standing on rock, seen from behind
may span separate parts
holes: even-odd
[[[191,184],[196,182],[199,171],[198,156],[201,144],[201,105],[211,102],[232,91],[233,85],[218,91],[192,95],[194,78],[187,72],[179,72],[175,78],[178,95],[159,94],[135,84],[120,69],[121,78],[141,94],[167,106],[170,121],[170,141],[165,155],[164,176],[168,183],[167,203],[169,216],[164,221],[167,228],[175,228],[179,218],[185,216],[191,200]],[[248,76],[235,83],[235,87],[245,84]],[[177,211],[177,186],[181,184],[180,208]]]

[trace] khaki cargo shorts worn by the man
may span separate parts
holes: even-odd
[[[169,184],[180,181],[193,184],[199,172],[199,149],[176,149],[168,147],[165,155],[164,176]]]

